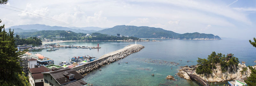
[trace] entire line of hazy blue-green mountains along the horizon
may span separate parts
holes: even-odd
[[[175,39],[195,39],[195,40],[220,40],[219,36],[212,34],[200,34],[200,33],[185,33],[179,34],[173,31],[164,30],[162,28],[146,27],[146,26],[125,26],[118,25],[112,28],[100,28],[100,27],[59,27],[59,26],[47,26],[41,24],[33,25],[19,25],[8,27],[14,29],[14,33],[20,32],[36,32],[41,30],[65,30],[75,33],[101,33],[108,35],[120,34],[123,36],[133,36],[138,38],[175,38]],[[33,30],[32,30],[33,29]],[[97,31],[99,30],[99,31]]]

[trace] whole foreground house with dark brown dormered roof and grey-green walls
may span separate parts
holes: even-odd
[[[44,72],[44,86],[83,86],[87,84],[81,74],[72,68],[57,69],[57,71]]]

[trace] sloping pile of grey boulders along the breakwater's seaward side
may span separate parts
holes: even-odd
[[[130,45],[128,45],[128,46],[130,46]],[[126,47],[128,47],[128,46],[126,46]],[[108,59],[106,59],[106,60],[103,60],[103,61],[101,61],[101,62],[99,62],[99,63],[97,63],[97,64],[94,64],[94,65],[92,65],[92,66],[85,67],[85,68],[80,69],[80,70],[78,70],[78,71],[76,71],[76,72],[78,72],[79,74],[89,73],[89,72],[91,72],[92,70],[95,70],[95,69],[97,69],[97,68],[100,68],[101,66],[104,66],[104,65],[106,65],[106,64],[110,64],[110,63],[115,62],[115,61],[117,61],[117,60],[123,59],[123,58],[125,58],[126,56],[128,56],[128,55],[130,55],[130,54],[132,54],[132,53],[134,53],[134,52],[140,51],[140,50],[143,49],[143,48],[144,48],[144,46],[142,46],[142,45],[140,45],[140,44],[136,44],[136,45],[134,45],[134,46],[131,47],[131,48],[128,48],[128,49],[126,49],[126,50],[124,50],[124,51],[121,51],[121,52],[119,52],[119,53],[117,53],[117,54],[112,55],[111,57],[108,57]]]

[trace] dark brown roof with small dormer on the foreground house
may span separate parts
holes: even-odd
[[[64,74],[73,74],[74,78],[73,79],[68,79]],[[76,80],[82,79],[84,78],[84,76],[82,76],[81,74],[77,73],[74,69],[72,68],[67,68],[67,69],[60,69],[57,71],[50,71],[50,72],[44,72],[42,74],[51,74],[52,77],[60,84],[60,85],[64,85],[67,83],[72,85],[74,83],[76,83]],[[76,81],[76,82],[74,82]],[[72,83],[71,83],[72,82]],[[82,81],[81,81],[82,82]],[[83,81],[83,83],[86,83]],[[69,85],[67,85],[69,86]]]

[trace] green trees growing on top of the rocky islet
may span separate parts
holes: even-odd
[[[231,57],[225,57],[225,55],[221,53],[216,54],[216,52],[212,52],[211,55],[208,55],[207,59],[198,58],[197,63],[198,67],[196,68],[196,73],[207,75],[212,73],[212,69],[216,69],[216,64],[218,63],[220,63],[222,72],[231,72],[232,70],[236,70],[239,61],[238,58],[233,57],[233,55]],[[231,68],[231,70],[227,70],[228,68]]]

